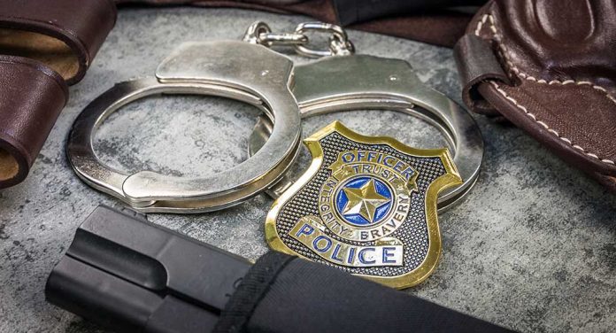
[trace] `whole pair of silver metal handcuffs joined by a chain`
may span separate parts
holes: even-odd
[[[329,50],[309,48],[308,31],[331,34]],[[302,66],[269,48],[293,45],[321,58]],[[155,78],[125,81],[97,97],[73,123],[67,155],[76,174],[97,190],[143,213],[202,213],[237,205],[265,190],[287,189],[285,174],[299,151],[301,119],[327,112],[381,109],[427,120],[443,132],[464,183],[443,191],[443,209],[470,190],[483,158],[481,132],[473,118],[449,98],[428,88],[404,60],[353,55],[342,29],[300,24],[294,33],[274,34],[263,22],[250,26],[243,42],[184,43],[166,58]],[[250,158],[203,178],[139,171],[126,174],[96,157],[93,137],[123,105],[156,94],[228,97],[264,112],[250,136]]]

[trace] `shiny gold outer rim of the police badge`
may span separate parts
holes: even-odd
[[[436,215],[436,202],[438,194],[447,188],[462,184],[462,178],[458,173],[458,169],[453,164],[450,152],[447,148],[442,149],[417,149],[412,148],[404,143],[400,143],[394,138],[389,136],[363,136],[349,128],[346,128],[340,121],[335,121],[325,128],[321,128],[318,132],[304,140],[304,144],[312,154],[312,163],[310,167],[302,174],[299,179],[293,183],[282,193],[281,197],[278,197],[272,205],[269,213],[266,217],[266,242],[274,250],[278,252],[287,253],[289,255],[298,256],[306,259],[304,256],[293,252],[289,247],[284,244],[281,238],[278,236],[276,230],[276,217],[280,213],[282,205],[284,205],[291,197],[293,197],[297,191],[299,191],[305,183],[309,182],[312,177],[317,174],[323,163],[323,149],[321,148],[319,141],[325,136],[338,132],[343,136],[348,137],[358,143],[366,144],[389,144],[397,151],[402,151],[406,154],[420,157],[437,157],[443,162],[446,174],[435,179],[427,188],[425,201],[426,201],[426,221],[428,230],[428,248],[427,256],[420,266],[413,269],[411,272],[404,275],[388,277],[388,276],[372,276],[372,275],[357,275],[364,277],[376,283],[381,283],[396,289],[409,288],[419,283],[422,283],[427,279],[429,275],[435,270],[436,264],[441,257],[441,232],[438,226],[438,217]]]

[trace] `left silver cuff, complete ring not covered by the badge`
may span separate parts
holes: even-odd
[[[289,58],[262,46],[184,43],[158,66],[156,78],[119,83],[88,105],[73,124],[68,159],[84,182],[143,213],[201,213],[237,205],[276,182],[296,157],[301,128],[289,91],[292,70]],[[254,105],[275,123],[272,139],[240,165],[203,178],[126,174],[105,166],[93,147],[96,128],[121,106],[155,94],[210,95]]]

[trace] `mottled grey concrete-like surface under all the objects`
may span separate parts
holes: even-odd
[[[178,43],[238,38],[256,19],[277,30],[307,20],[226,9],[119,13],[85,80],[71,89],[29,178],[0,192],[1,332],[102,331],[43,297],[46,277],[75,228],[96,205],[116,204],[80,182],[66,161],[66,135],[81,109],[114,82],[152,74]],[[423,81],[459,101],[451,50],[381,35],[350,36],[359,52],[404,58]],[[113,115],[96,137],[96,149],[125,170],[208,174],[247,158],[255,117],[250,106],[223,99],[150,98]],[[476,118],[487,149],[481,178],[464,202],[440,216],[441,264],[426,283],[407,292],[520,331],[616,331],[616,196],[519,129]],[[304,136],[336,119],[368,135],[420,147],[443,144],[420,120],[377,111],[307,120]],[[302,154],[304,167],[309,157]],[[261,195],[223,213],[158,214],[150,220],[256,259],[267,250],[263,222],[271,204]]]

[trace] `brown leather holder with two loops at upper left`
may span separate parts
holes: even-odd
[[[23,181],[116,19],[111,0],[0,0],[0,189]]]

